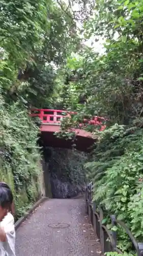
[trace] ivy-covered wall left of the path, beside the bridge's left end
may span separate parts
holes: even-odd
[[[18,111],[20,109],[20,111]],[[5,108],[1,103],[1,175],[12,187],[16,218],[40,196],[38,127],[19,102]]]

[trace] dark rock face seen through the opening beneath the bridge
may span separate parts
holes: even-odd
[[[72,198],[85,189],[84,162],[87,156],[75,150],[46,148],[44,152],[46,195],[53,198]]]

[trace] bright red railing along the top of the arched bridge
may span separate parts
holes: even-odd
[[[61,119],[65,117],[70,117],[71,114],[76,114],[75,112],[68,112],[65,110],[48,110],[48,109],[32,109],[30,116],[39,117],[44,124],[60,124]],[[94,116],[91,120],[83,119],[83,124],[101,125],[100,131],[106,128],[106,125],[102,125],[105,119],[103,117]],[[79,125],[79,126],[82,126]]]

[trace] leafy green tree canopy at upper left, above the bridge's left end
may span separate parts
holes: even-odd
[[[52,108],[56,70],[79,44],[74,17],[64,3],[3,1],[1,87],[5,100]],[[47,18],[48,17],[48,18]],[[39,103],[38,103],[39,102]]]

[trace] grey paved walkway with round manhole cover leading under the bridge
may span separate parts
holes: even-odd
[[[17,256],[99,256],[83,198],[50,199],[16,231]]]

